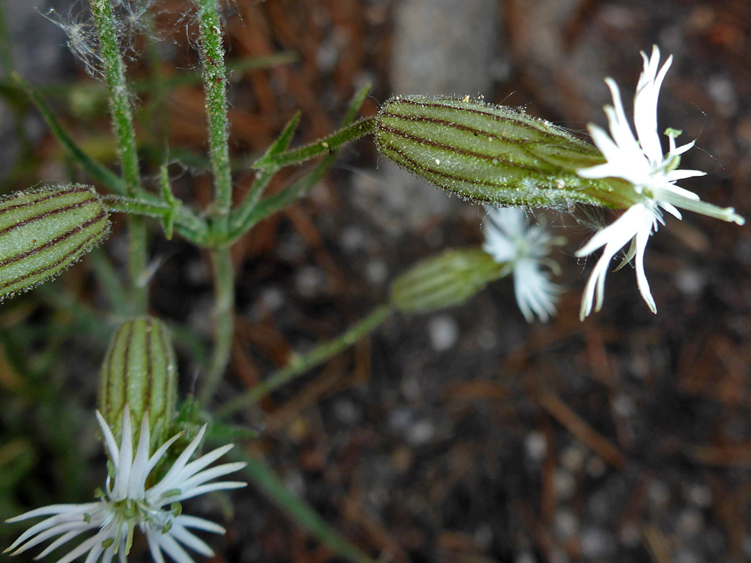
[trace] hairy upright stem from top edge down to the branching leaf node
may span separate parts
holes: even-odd
[[[209,129],[209,156],[214,175],[214,228],[226,233],[232,207],[232,175],[227,142],[227,69],[216,0],[195,0],[201,32],[201,64]]]

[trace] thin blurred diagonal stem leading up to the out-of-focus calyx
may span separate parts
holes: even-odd
[[[216,415],[217,419],[231,417],[241,408],[254,404],[258,399],[267,396],[271,391],[288,383],[298,375],[336,356],[382,324],[392,312],[394,312],[394,308],[391,305],[382,305],[335,339],[319,344],[306,354],[292,357],[287,366],[273,372],[266,381],[227,402],[219,409]]]

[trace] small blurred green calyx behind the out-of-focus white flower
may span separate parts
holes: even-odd
[[[461,305],[508,273],[481,248],[456,248],[419,261],[391,284],[391,303],[402,312]]]

